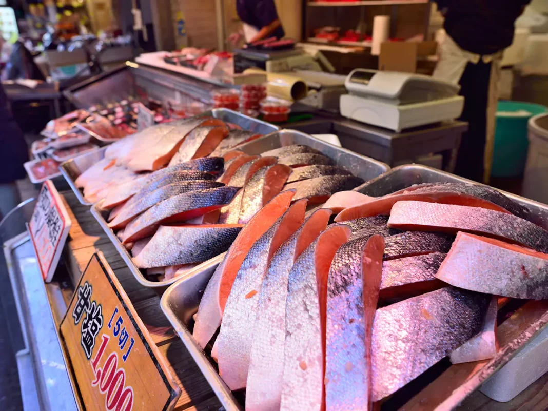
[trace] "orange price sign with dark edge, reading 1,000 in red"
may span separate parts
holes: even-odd
[[[181,389],[100,251],[59,330],[87,411],[173,410]]]

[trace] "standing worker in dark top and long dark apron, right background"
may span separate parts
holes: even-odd
[[[460,84],[469,123],[455,174],[488,182],[493,162],[496,101],[503,50],[512,44],[514,22],[530,0],[435,0],[445,17],[446,38],[433,77]]]

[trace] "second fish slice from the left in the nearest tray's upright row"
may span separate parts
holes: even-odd
[[[250,248],[238,270],[215,341],[219,374],[231,390],[246,387],[262,280],[272,255],[304,221],[306,200],[289,207]]]

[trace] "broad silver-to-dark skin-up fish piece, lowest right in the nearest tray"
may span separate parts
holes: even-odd
[[[445,287],[375,313],[373,401],[379,401],[476,335],[491,296]]]

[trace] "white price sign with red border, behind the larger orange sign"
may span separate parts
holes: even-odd
[[[46,282],[52,281],[71,220],[51,180],[45,180],[28,223],[38,265]]]

